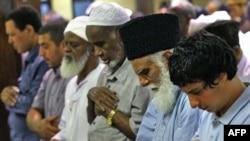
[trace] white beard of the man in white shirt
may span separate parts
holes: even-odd
[[[71,59],[67,59],[71,57]],[[68,78],[77,75],[86,65],[89,57],[89,51],[86,51],[79,60],[70,55],[63,57],[63,61],[60,67],[62,77]]]

